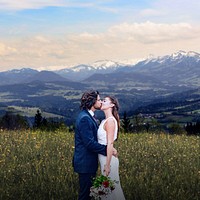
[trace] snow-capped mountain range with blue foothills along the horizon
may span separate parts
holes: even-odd
[[[200,54],[192,51],[179,51],[172,55],[157,58],[151,57],[134,65],[104,60],[97,61],[92,65],[81,64],[51,72],[37,71],[30,68],[13,69],[0,72],[0,85],[27,83],[38,80],[43,82],[87,82],[97,79],[97,82],[110,82],[111,80],[113,81],[113,76],[118,77],[118,81],[123,79],[128,81],[129,79],[136,78],[142,82],[155,81],[166,86],[198,87],[200,85]]]

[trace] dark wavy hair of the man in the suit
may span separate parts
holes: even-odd
[[[80,109],[88,109],[96,103],[99,92],[96,90],[90,90],[83,93],[81,97]]]

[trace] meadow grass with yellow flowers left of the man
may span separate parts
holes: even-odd
[[[0,199],[73,199],[73,135],[2,132]]]

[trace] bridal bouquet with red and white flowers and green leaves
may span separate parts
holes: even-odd
[[[90,196],[94,197],[94,199],[106,197],[115,189],[115,183],[117,181],[111,180],[108,176],[100,175],[95,177],[90,188]]]

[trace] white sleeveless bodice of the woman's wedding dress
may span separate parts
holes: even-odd
[[[97,132],[97,137],[98,137],[98,143],[107,145],[107,137],[106,137],[106,131],[104,129],[104,124],[108,119],[114,119],[115,121],[115,133],[114,133],[114,140],[117,139],[117,132],[118,132],[118,127],[117,127],[117,120],[114,117],[108,117],[107,119],[104,119],[101,124],[99,125],[99,129]]]

